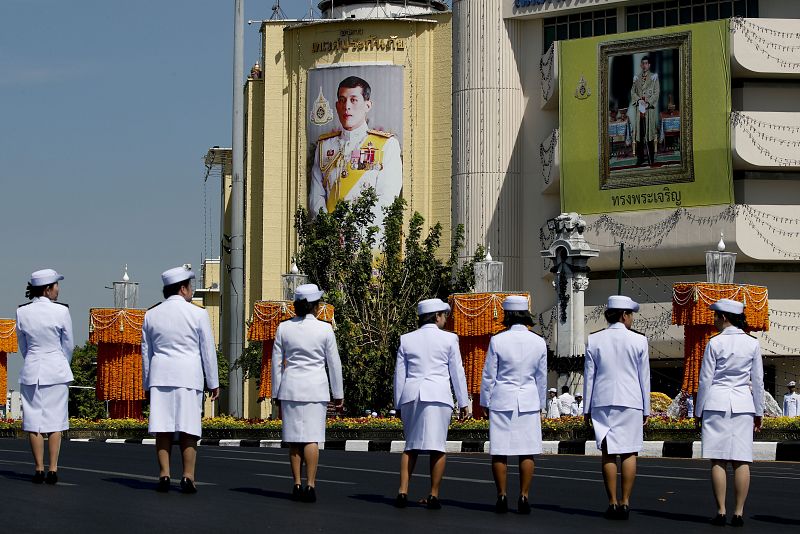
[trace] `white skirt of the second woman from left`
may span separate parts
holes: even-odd
[[[150,421],[147,431],[183,432],[200,437],[203,392],[199,389],[153,386],[150,388]]]

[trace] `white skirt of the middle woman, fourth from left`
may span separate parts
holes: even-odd
[[[407,451],[447,450],[447,429],[453,408],[443,402],[419,400],[400,406]]]

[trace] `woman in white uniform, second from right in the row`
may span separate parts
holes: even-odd
[[[607,519],[628,519],[636,456],[650,415],[650,357],[647,338],[631,330],[639,305],[608,297],[608,328],[589,335],[584,365],[584,418],[594,426],[602,451]],[[617,499],[617,458],[622,464],[622,499]]]

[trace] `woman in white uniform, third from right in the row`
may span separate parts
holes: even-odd
[[[489,453],[497,488],[495,512],[508,512],[508,456],[519,456],[517,512],[529,514],[534,454],[542,453],[542,407],[547,396],[547,344],[528,330],[528,297],[503,301],[507,330],[492,337],[481,380],[481,406],[489,411]]]

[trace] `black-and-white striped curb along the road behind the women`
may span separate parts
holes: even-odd
[[[153,438],[83,438],[71,439],[75,442],[100,442],[113,444],[155,445]],[[346,441],[328,441],[320,444],[320,449],[350,452],[389,452],[401,453],[405,441],[370,441],[366,439],[349,439]],[[279,439],[200,439],[203,447],[258,447],[279,449],[285,444]],[[645,441],[639,456],[643,458],[702,458],[700,441]],[[488,441],[448,441],[446,452],[482,452],[489,453]],[[543,441],[543,455],[574,454],[583,456],[600,456],[594,441],[567,440]],[[756,441],[753,443],[753,460],[756,461],[800,461],[800,441]]]

